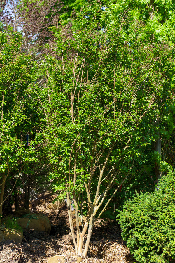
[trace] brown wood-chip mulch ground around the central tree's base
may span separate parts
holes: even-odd
[[[31,212],[43,214],[50,219],[50,234],[34,230],[23,231],[24,239],[21,244],[12,241],[0,243],[0,263],[47,263],[48,258],[55,255],[75,256],[67,206],[61,205],[59,210],[48,209],[48,203],[53,199],[50,194],[40,195],[38,202],[35,200],[31,207]],[[101,224],[99,220],[95,224],[85,262],[92,262],[93,258],[104,259],[107,263],[134,262],[122,240],[121,229],[117,223],[109,221]]]

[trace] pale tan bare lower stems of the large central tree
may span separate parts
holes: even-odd
[[[105,159],[103,168],[101,169],[101,172],[99,174],[97,189],[96,189],[96,193],[95,193],[95,198],[93,198],[94,199],[93,203],[91,202],[91,192],[90,192],[91,181],[92,181],[92,177],[93,177],[93,174],[94,174],[93,171],[92,171],[92,173],[91,173],[91,175],[89,177],[88,185],[85,183],[86,195],[87,195],[87,199],[88,199],[88,212],[87,212],[87,217],[86,217],[85,222],[83,222],[83,214],[82,214],[82,205],[83,205],[83,197],[82,196],[83,196],[83,191],[81,191],[79,193],[78,200],[76,198],[75,191],[74,190],[72,191],[73,200],[74,200],[74,206],[75,206],[76,235],[75,235],[75,232],[74,232],[74,224],[73,224],[72,211],[71,211],[71,204],[72,204],[73,200],[71,200],[71,193],[67,192],[67,207],[68,207],[68,215],[69,215],[69,224],[70,224],[70,229],[71,229],[71,233],[72,233],[72,239],[73,239],[73,243],[74,243],[74,246],[75,246],[76,254],[78,256],[83,256],[83,257],[87,256],[88,248],[89,248],[89,244],[90,244],[90,239],[91,239],[91,236],[92,236],[92,230],[93,230],[95,222],[99,219],[101,214],[106,209],[108,203],[111,201],[111,199],[114,197],[114,195],[117,192],[117,190],[120,188],[120,186],[123,184],[123,182],[128,177],[128,175],[129,175],[129,173],[130,173],[130,171],[132,169],[132,166],[134,164],[134,161],[135,161],[135,158],[134,158],[133,162],[132,162],[132,165],[131,165],[129,171],[127,172],[125,178],[122,180],[122,182],[115,189],[115,191],[113,192],[111,197],[108,199],[108,202],[102,208],[101,212],[98,213],[98,215],[97,215],[97,212],[98,212],[99,208],[101,207],[101,205],[103,204],[103,201],[105,200],[108,191],[111,188],[113,188],[114,180],[115,180],[115,178],[116,178],[116,176],[118,174],[118,170],[116,170],[115,167],[112,167],[112,169],[109,172],[110,173],[110,177],[111,177],[111,181],[108,184],[108,186],[105,189],[105,191],[100,194],[100,186],[101,186],[101,183],[103,181],[102,177],[104,175],[104,170],[106,168],[106,164],[108,162],[108,158],[109,158],[109,156],[110,156],[110,154],[111,154],[111,152],[113,150],[114,145],[115,145],[115,143],[113,143],[111,145],[111,147],[109,148],[108,154],[106,155],[106,159]],[[75,158],[76,158],[76,156],[75,156]],[[75,169],[76,169],[76,165],[74,166],[74,170]],[[74,184],[75,184],[75,177],[76,177],[76,174],[74,173],[74,175],[73,175]],[[78,209],[79,209],[79,206],[78,206],[79,202],[78,201],[80,200],[80,197],[82,197],[81,198],[81,206],[80,206],[82,231],[80,230],[79,217],[78,217],[78,212],[79,212],[78,211]],[[87,238],[86,238],[85,245],[84,245],[84,237],[85,237],[85,234],[86,234],[87,230],[88,230],[88,233],[87,233]]]

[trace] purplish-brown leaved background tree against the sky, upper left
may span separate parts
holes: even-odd
[[[43,59],[46,52],[45,44],[53,37],[50,26],[59,14],[62,2],[46,1],[5,1],[0,13],[3,31],[12,27],[22,34],[22,51],[32,54],[33,60]]]

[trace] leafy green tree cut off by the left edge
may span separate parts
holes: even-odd
[[[20,47],[17,32],[0,33],[0,216],[7,197],[17,197],[19,182],[23,188],[27,175],[33,174],[31,165],[38,160],[42,141],[37,135],[41,127],[32,95],[35,66]]]

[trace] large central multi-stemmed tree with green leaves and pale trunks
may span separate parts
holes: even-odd
[[[139,20],[129,27],[127,11],[107,7],[85,5],[76,30],[53,27],[55,48],[43,65],[46,81],[36,85],[54,166],[50,179],[60,198],[67,196],[76,254],[83,256],[94,223],[155,141],[159,101],[164,107],[173,103],[174,46],[148,41]]]

